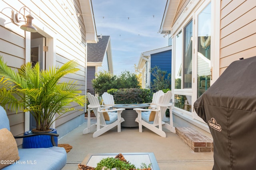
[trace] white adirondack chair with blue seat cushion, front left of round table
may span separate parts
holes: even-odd
[[[117,132],[120,132],[121,123],[124,121],[124,118],[121,117],[121,113],[125,109],[120,108],[113,110],[102,110],[102,108],[100,107],[100,102],[97,97],[93,96],[90,93],[87,93],[87,97],[90,103],[88,105],[88,113],[90,113],[90,110],[92,109],[97,118],[97,122],[93,125],[90,125],[90,114],[88,114],[87,128],[84,129],[83,134],[90,133],[96,130],[93,133],[92,137],[98,137],[115,126],[117,126]],[[108,113],[110,117],[109,121],[106,121],[104,119],[103,112]]]

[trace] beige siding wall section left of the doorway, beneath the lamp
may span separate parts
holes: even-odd
[[[3,56],[4,62],[14,69],[20,68],[21,64],[25,64],[26,44],[24,31],[11,22],[12,13],[9,7],[5,2],[0,1],[0,55]],[[8,110],[6,112],[10,120],[12,134],[21,135],[24,133],[24,113],[19,111],[16,114]],[[18,140],[19,143],[21,141]]]

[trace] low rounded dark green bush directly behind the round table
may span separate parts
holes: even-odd
[[[113,95],[115,104],[150,103],[153,96],[150,89],[142,88],[110,89],[108,93]]]

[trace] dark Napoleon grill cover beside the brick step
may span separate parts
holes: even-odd
[[[214,170],[256,169],[256,57],[234,61],[194,103],[214,141]]]

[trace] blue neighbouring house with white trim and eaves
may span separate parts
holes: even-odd
[[[150,88],[150,82],[153,80],[150,69],[158,66],[167,74],[172,70],[172,46],[154,49],[141,53],[138,70],[142,74],[142,88]]]

